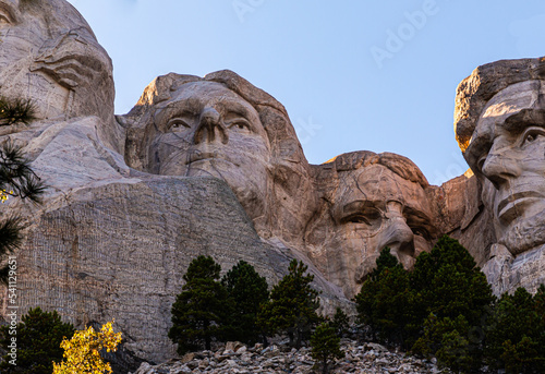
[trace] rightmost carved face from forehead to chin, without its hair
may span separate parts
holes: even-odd
[[[545,85],[511,85],[486,105],[465,152],[483,182],[499,243],[517,255],[545,243]]]

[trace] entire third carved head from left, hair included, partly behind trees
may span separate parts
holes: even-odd
[[[354,297],[389,246],[407,269],[437,236],[432,191],[408,158],[354,152],[315,167],[319,210],[305,248],[328,279]]]

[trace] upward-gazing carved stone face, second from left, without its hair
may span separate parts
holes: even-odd
[[[252,105],[219,83],[186,83],[157,106],[154,122],[152,171],[223,179],[252,218],[264,214],[270,147]]]

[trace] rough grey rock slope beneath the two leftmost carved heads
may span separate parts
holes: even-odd
[[[350,304],[304,254],[263,241],[225,181],[132,170],[97,137],[99,126],[96,117],[41,121],[5,135],[24,146],[49,185],[43,206],[5,206],[29,225],[15,253],[21,315],[40,305],[78,328],[116,318],[124,349],[161,362],[174,352],[170,307],[199,254],[223,272],[244,260],[270,285],[296,257],[315,274],[325,313]]]

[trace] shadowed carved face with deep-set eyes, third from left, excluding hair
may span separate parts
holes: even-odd
[[[434,228],[419,183],[382,165],[342,171],[338,178],[330,217],[324,217],[308,240],[323,242],[317,244],[328,252],[323,272],[353,297],[376,267],[380,250],[389,246],[405,268],[412,268],[415,257],[432,249]]]

